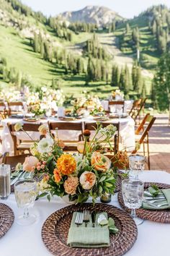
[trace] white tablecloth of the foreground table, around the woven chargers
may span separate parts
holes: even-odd
[[[143,182],[163,182],[170,184],[170,174],[164,171],[144,171],[140,174]],[[18,216],[22,211],[17,208],[14,194],[9,199],[2,201],[14,210]],[[110,205],[120,208],[117,194],[112,197]],[[37,200],[31,212],[37,214],[37,223],[31,226],[19,226],[15,221],[12,228],[0,239],[1,256],[50,256],[41,239],[42,224],[55,210],[67,206],[58,197],[50,202],[45,198]],[[169,231],[170,225],[144,221],[138,226],[138,239],[126,256],[169,256]],[[66,255],[71,256],[71,255]]]

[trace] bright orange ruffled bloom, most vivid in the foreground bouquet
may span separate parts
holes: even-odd
[[[76,171],[76,160],[72,155],[61,155],[57,161],[58,171],[63,175],[72,174]]]

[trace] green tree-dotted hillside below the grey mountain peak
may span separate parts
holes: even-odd
[[[148,9],[133,20],[101,28],[81,22],[66,25],[58,18],[33,12],[17,0],[0,0],[0,85],[53,85],[67,95],[88,90],[102,98],[120,88],[126,95],[149,96],[161,56],[153,33],[154,19],[157,30],[159,26],[156,11]],[[161,7],[158,12],[164,21],[162,30],[167,30],[169,11]],[[137,44],[140,62],[133,65]],[[136,85],[133,69],[138,76]]]

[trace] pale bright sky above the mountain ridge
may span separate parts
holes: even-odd
[[[47,16],[55,16],[61,12],[76,11],[87,5],[109,7],[122,17],[133,18],[156,4],[166,4],[170,8],[170,0],[21,0],[23,4],[41,11]]]

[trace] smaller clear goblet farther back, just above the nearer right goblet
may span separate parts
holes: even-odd
[[[129,156],[130,171],[133,172],[135,179],[138,179],[138,175],[143,172],[145,168],[145,156],[132,154]]]

